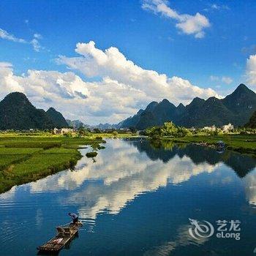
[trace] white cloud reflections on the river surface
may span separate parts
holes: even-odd
[[[110,140],[105,150],[99,151],[94,163],[83,157],[78,162],[75,171],[64,171],[48,176],[39,181],[24,185],[31,193],[40,192],[69,192],[65,197],[58,195],[60,203],[80,205],[78,208],[82,219],[96,219],[97,214],[108,211],[118,214],[129,201],[138,195],[152,192],[159,187],[170,184],[182,184],[192,176],[200,173],[213,173],[224,165],[222,162],[196,162],[189,154],[184,154],[176,148],[175,154],[163,161],[160,157],[148,157],[148,152],[139,150],[140,144],[127,143],[124,140]],[[150,152],[152,148],[149,149]],[[82,150],[86,153],[86,149]],[[151,152],[152,153],[152,152]],[[167,151],[168,153],[168,151]],[[155,151],[154,151],[155,154]],[[246,198],[255,205],[255,172],[245,178]],[[222,183],[231,182],[227,176]],[[1,197],[11,197],[15,188]]]

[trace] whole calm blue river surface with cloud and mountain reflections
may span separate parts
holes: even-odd
[[[59,255],[256,255],[256,159],[140,139],[105,146],[96,162],[0,195],[0,255],[37,255],[69,211],[83,227]],[[240,220],[241,239],[196,240],[189,218]]]

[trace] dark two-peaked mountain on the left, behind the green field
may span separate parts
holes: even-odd
[[[0,129],[53,129],[65,127],[63,116],[50,108],[37,109],[25,94],[12,92],[0,102]],[[67,123],[67,122],[66,122]]]

